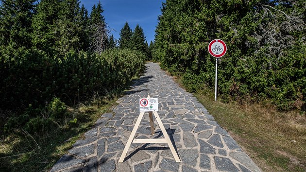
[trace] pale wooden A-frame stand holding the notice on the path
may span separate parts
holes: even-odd
[[[150,96],[148,96],[148,99],[150,99]],[[158,125],[159,125],[159,127],[160,127],[160,129],[161,129],[165,138],[139,138],[139,139],[134,139],[136,131],[139,127],[139,124],[140,124],[140,122],[143,118],[144,113],[145,112],[140,112],[139,117],[138,117],[138,119],[135,123],[135,126],[132,130],[132,133],[130,135],[130,138],[128,139],[128,141],[126,143],[126,145],[124,147],[124,150],[122,152],[122,155],[121,155],[118,162],[123,162],[123,160],[124,160],[126,154],[128,153],[128,150],[129,150],[132,143],[167,143],[170,150],[171,150],[172,155],[174,156],[175,161],[176,162],[181,162],[180,158],[178,157],[178,155],[177,155],[177,153],[176,153],[176,151],[175,151],[175,149],[172,145],[172,142],[171,142],[171,140],[168,136],[168,133],[167,133],[167,131],[166,131],[166,129],[165,129],[165,127],[164,127],[162,121],[160,120],[159,115],[157,114],[156,111],[153,111],[153,114],[154,114],[154,117],[155,117],[155,119],[156,119],[156,121],[157,121],[157,123],[158,123]],[[154,134],[152,112],[149,112],[149,119],[150,119],[150,125],[151,125],[151,132],[152,132],[152,134]]]

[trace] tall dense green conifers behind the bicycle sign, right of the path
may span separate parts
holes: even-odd
[[[190,91],[213,88],[208,43],[222,39],[218,92],[223,101],[269,101],[306,109],[305,0],[167,0],[153,59],[182,76]]]

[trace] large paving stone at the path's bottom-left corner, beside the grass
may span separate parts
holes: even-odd
[[[50,172],[55,172],[58,170],[66,169],[68,167],[85,163],[84,159],[75,158],[71,155],[63,155],[56,164],[52,167]]]

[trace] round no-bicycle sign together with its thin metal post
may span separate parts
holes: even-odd
[[[226,44],[221,39],[214,39],[208,45],[210,55],[216,57],[216,77],[215,77],[215,101],[217,101],[217,76],[218,76],[218,58],[226,53]]]

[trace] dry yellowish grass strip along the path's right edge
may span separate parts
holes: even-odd
[[[225,104],[207,92],[198,100],[266,172],[306,172],[306,117],[270,104]]]

